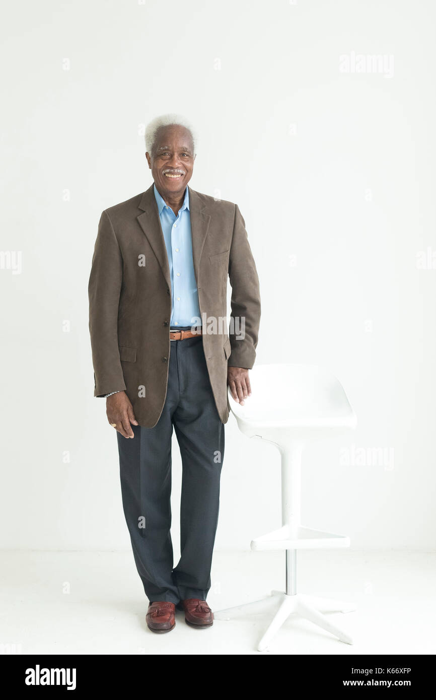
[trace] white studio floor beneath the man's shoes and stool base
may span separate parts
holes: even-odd
[[[0,552],[1,652],[22,654],[260,654],[267,615],[186,625],[157,635],[131,552]],[[213,610],[282,589],[282,552],[215,552]],[[436,552],[299,552],[300,593],[357,603],[332,614],[355,643],[296,617],[262,654],[435,654]]]

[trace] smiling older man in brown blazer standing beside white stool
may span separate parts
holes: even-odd
[[[94,395],[117,431],[122,504],[150,630],[195,628],[218,524],[227,384],[250,395],[258,274],[237,204],[188,187],[195,133],[170,114],[146,129],[153,185],[105,209],[89,282]],[[227,277],[232,286],[230,328]],[[171,435],[181,451],[181,558],[171,544]]]

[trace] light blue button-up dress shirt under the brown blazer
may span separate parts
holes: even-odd
[[[166,204],[156,186],[154,186],[154,190],[171,275],[171,320],[169,323],[171,326],[197,325],[197,319],[201,318],[201,315],[192,259],[188,187],[185,190],[185,199],[181,209],[178,210],[178,216]]]

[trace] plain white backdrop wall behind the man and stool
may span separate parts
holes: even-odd
[[[176,111],[200,133],[190,186],[246,221],[258,362],[329,367],[358,415],[305,453],[304,524],[435,549],[434,3],[25,0],[6,15],[1,545],[130,547],[87,281],[101,211],[150,186],[143,126]],[[177,449],[173,474],[177,553]],[[247,549],[279,505],[279,454],[231,417],[216,547]]]

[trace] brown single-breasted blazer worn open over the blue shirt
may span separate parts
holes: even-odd
[[[226,423],[227,363],[251,369],[255,361],[258,274],[237,204],[189,188],[189,206],[204,356]],[[229,335],[225,320],[220,328],[219,318],[227,316],[227,276],[231,316],[244,316],[244,339]],[[152,428],[167,394],[171,342],[171,279],[153,184],[102,212],[88,293],[94,396],[126,391],[139,425]]]

